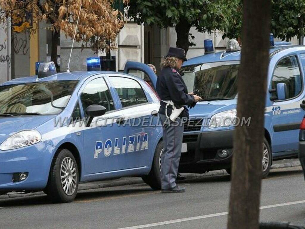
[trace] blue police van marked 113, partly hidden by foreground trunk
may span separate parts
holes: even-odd
[[[270,35],[267,94],[265,101],[262,173],[266,177],[273,160],[296,157],[298,134],[305,112],[305,46],[275,42]],[[205,173],[226,169],[231,173],[233,131],[236,122],[237,78],[241,51],[230,40],[224,52],[214,53],[212,40],[205,40],[205,55],[189,59],[181,68],[189,92],[203,100],[190,109],[185,123],[179,172]],[[127,63],[125,72],[140,75],[137,63]],[[142,78],[149,77],[142,72]],[[155,76],[151,75],[153,82]],[[251,87],[251,85],[249,85]]]

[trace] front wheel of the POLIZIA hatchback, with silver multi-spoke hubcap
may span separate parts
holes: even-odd
[[[52,202],[72,202],[77,194],[78,178],[77,163],[73,154],[67,149],[60,149],[53,160],[45,193]]]

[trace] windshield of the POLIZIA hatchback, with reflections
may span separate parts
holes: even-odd
[[[68,104],[77,80],[0,86],[0,117],[56,115]]]

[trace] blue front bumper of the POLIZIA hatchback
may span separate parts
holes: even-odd
[[[42,190],[48,182],[56,147],[39,142],[15,150],[0,150],[0,192]],[[27,179],[13,182],[13,174],[28,173]]]

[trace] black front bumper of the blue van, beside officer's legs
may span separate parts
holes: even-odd
[[[179,171],[204,173],[210,170],[228,169],[231,166],[234,129],[207,131],[197,134],[185,133],[183,142],[188,152],[181,154]],[[217,153],[229,152],[221,158]]]

